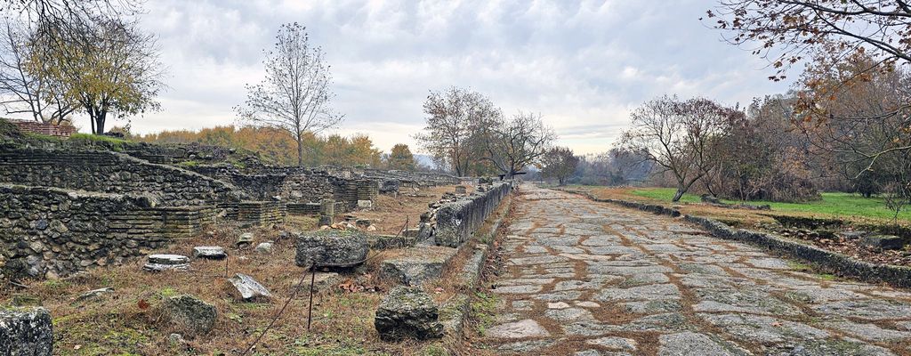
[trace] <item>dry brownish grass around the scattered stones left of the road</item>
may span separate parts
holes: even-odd
[[[394,233],[404,223],[395,217],[406,214],[416,222],[426,210],[426,203],[452,190],[452,187],[430,188],[417,197],[400,196],[398,199],[384,196],[376,209],[357,215],[382,220],[378,221],[382,229],[377,232]],[[293,241],[279,239],[281,229],[314,229],[314,223],[312,218],[293,217],[284,226],[274,229],[241,230],[232,225],[219,225],[195,239],[179,240],[169,248],[155,251],[189,256],[194,246],[225,247],[229,253],[228,276],[237,272],[251,275],[271,290],[274,298],[269,301],[235,300],[225,278],[225,260],[194,260],[189,271],[162,273],[145,272],[141,270],[144,261],[135,260],[126,265],[88,270],[64,280],[27,282],[26,289],[4,287],[5,290],[0,290],[0,304],[32,300],[50,310],[54,318],[55,354],[240,355],[281,310],[305,273],[294,265]],[[238,236],[246,231],[254,232],[256,243],[275,241],[271,255],[256,253],[251,248],[234,248]],[[445,348],[439,342],[386,343],[379,340],[373,325],[374,310],[390,287],[375,277],[379,260],[380,256],[377,256],[362,270],[343,274],[343,284],[363,287],[363,290],[352,292],[330,286],[315,295],[311,331],[306,329],[309,290],[302,288],[251,354],[445,354]],[[304,280],[309,281],[309,275]],[[112,287],[115,291],[98,300],[74,303],[79,294],[104,287]],[[172,344],[169,334],[176,330],[162,320],[160,305],[165,298],[179,294],[191,294],[214,304],[219,316],[214,329],[207,335]],[[434,297],[439,300],[448,294]]]

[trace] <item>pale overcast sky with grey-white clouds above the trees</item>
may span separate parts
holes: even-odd
[[[540,113],[577,153],[609,149],[630,109],[661,94],[747,104],[783,92],[763,59],[699,18],[711,0],[150,0],[144,27],[168,67],[162,111],[134,131],[234,122],[281,23],[307,26],[333,66],[335,132],[415,147],[428,90],[465,86],[507,114]],[[77,119],[77,124],[80,119]],[[86,125],[87,126],[87,125]]]

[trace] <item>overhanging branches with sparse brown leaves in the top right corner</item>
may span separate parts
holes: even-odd
[[[778,68],[780,80],[794,64],[820,52],[841,58],[858,50],[878,64],[911,62],[911,5],[903,0],[721,0],[708,11],[728,42],[751,46]]]

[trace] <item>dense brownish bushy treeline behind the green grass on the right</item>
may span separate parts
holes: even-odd
[[[618,147],[645,155],[653,163],[650,183],[677,188],[675,199],[698,192],[803,201],[825,190],[907,202],[909,85],[911,73],[876,66],[862,53],[819,60],[792,91],[748,107],[652,99],[632,112]]]

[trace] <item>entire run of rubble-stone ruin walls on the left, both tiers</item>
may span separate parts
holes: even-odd
[[[289,212],[318,213],[323,198],[336,200],[335,211],[355,209],[377,197],[381,176],[460,181],[375,169],[178,166],[105,150],[0,146],[0,280],[122,263],[216,219],[279,223]]]

